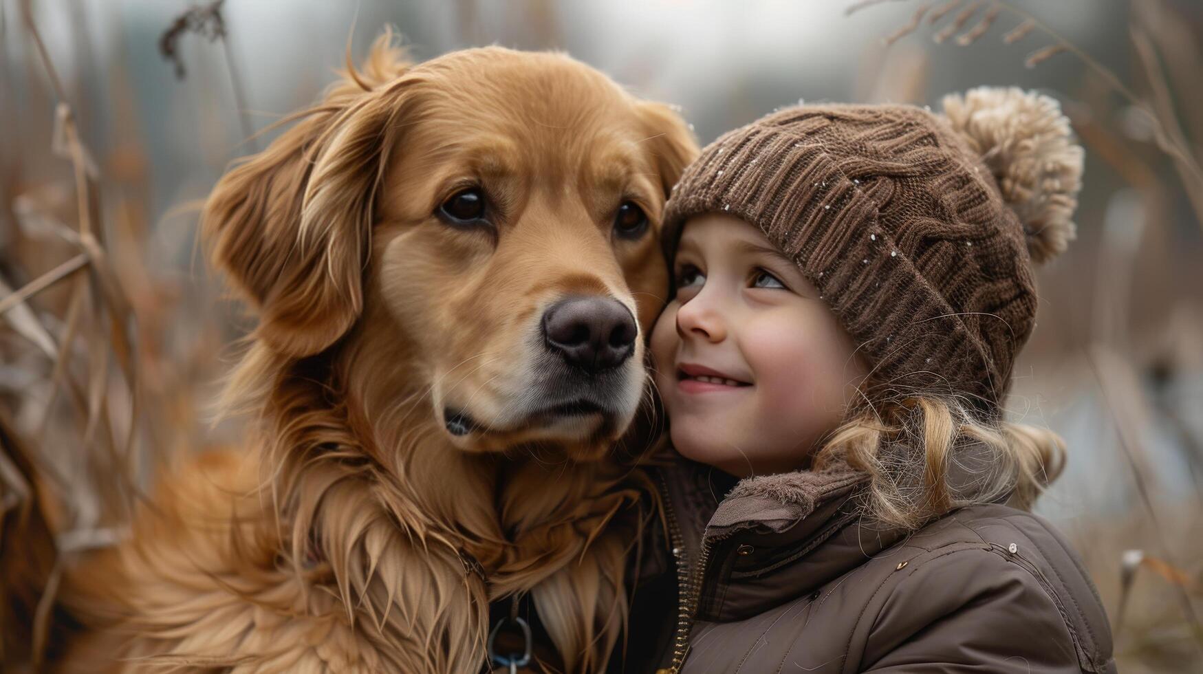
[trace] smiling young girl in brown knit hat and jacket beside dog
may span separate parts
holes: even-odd
[[[685,457],[662,471],[680,620],[654,667],[1114,670],[1078,556],[1027,512],[1061,441],[1001,408],[1081,162],[1018,89],[795,107],[703,152],[652,333]],[[705,465],[739,478],[717,508]]]

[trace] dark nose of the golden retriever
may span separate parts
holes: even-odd
[[[568,297],[543,314],[547,348],[589,373],[618,367],[635,353],[635,317],[609,297]]]

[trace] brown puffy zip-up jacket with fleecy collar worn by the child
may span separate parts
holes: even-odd
[[[721,503],[716,474],[660,469],[668,533],[612,670],[1115,672],[1094,584],[1036,515],[973,506],[908,534],[863,522],[851,471],[749,478]]]

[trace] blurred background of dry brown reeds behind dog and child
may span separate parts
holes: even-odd
[[[802,100],[1059,99],[1086,147],[1078,240],[1039,271],[1008,409],[1067,441],[1038,510],[1081,551],[1121,670],[1203,670],[1199,0],[0,0],[0,583],[53,590],[61,561],[14,542],[111,544],[164,462],[236,441],[207,410],[251,323],[196,206],[389,24],[420,60],[565,51],[680,105],[701,143]],[[45,640],[49,599],[23,601],[6,657]]]

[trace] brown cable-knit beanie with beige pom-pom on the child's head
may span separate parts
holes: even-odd
[[[1057,102],[979,88],[943,114],[810,105],[730,131],[665,207],[725,212],[798,264],[884,391],[942,392],[997,413],[1032,331],[1032,261],[1065,250],[1083,150]]]

